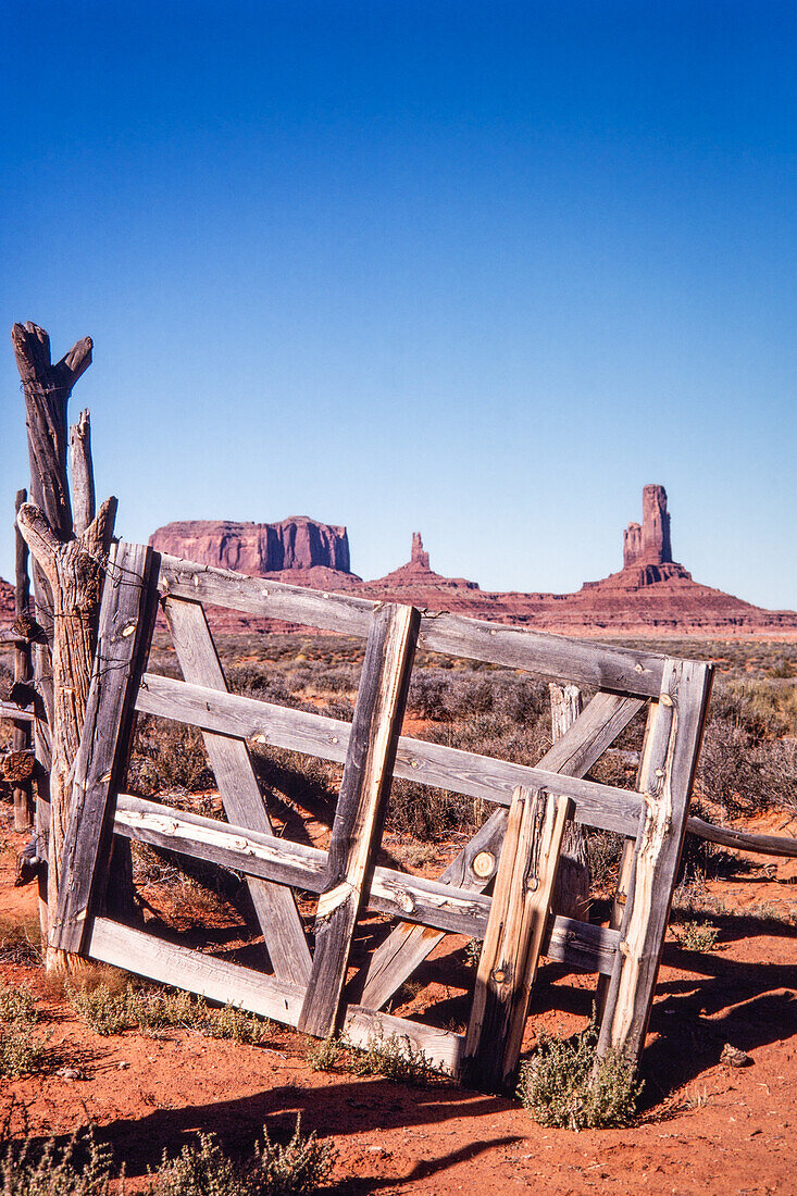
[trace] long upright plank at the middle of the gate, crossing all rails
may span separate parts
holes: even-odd
[[[420,611],[385,605],[373,615],[352,734],[329,844],[326,891],[318,899],[312,976],[299,1029],[324,1037],[341,1017],[341,994],[357,916],[373,869]]]

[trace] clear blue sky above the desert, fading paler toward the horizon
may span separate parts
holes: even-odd
[[[346,524],[378,576],[577,588],[662,482],[693,575],[797,606],[797,6],[26,4],[8,329],[95,338],[117,530]]]

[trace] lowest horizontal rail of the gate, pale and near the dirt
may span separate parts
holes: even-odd
[[[294,1026],[299,1019],[304,999],[300,986],[156,939],[108,917],[93,920],[87,954],[99,963],[134,971],[162,984],[184,988],[221,1005],[236,1005],[282,1025]],[[395,1035],[400,1046],[409,1044],[415,1051],[422,1050],[432,1064],[452,1075],[458,1074],[463,1036],[450,1030],[348,1005],[343,1033],[354,1046],[365,1048],[375,1039]]]

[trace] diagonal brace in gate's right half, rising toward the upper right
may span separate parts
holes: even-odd
[[[644,702],[638,698],[596,694],[578,721],[546,752],[540,764],[562,776],[583,776],[643,706]],[[506,811],[497,810],[452,860],[440,880],[462,889],[486,889],[495,874],[505,825]],[[426,927],[397,926],[371,956],[363,1003],[378,1009],[389,1001],[442,938],[442,934]]]

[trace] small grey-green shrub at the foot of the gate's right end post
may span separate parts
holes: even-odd
[[[571,1039],[541,1037],[535,1056],[521,1069],[517,1094],[541,1125],[560,1129],[607,1129],[629,1125],[641,1084],[617,1050],[596,1054],[597,1032],[590,1025]]]

